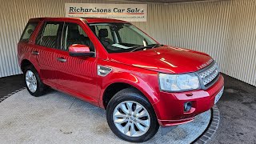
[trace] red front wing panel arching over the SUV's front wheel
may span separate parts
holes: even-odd
[[[100,99],[104,94],[107,86],[110,86],[113,83],[126,83],[134,88],[140,90],[142,94],[148,98],[151,103],[159,101],[158,97],[158,73],[152,70],[142,70],[135,66],[126,66],[121,63],[109,62],[99,60],[98,65],[108,66],[112,68],[110,74],[106,77],[98,78],[98,85],[101,86]],[[148,85],[147,83],[151,83]],[[100,102],[100,106],[103,108],[103,102]]]

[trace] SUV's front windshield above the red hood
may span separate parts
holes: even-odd
[[[154,39],[127,23],[92,23],[90,29],[108,53],[146,50],[158,46]]]

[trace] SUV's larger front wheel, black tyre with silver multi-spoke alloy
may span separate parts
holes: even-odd
[[[106,108],[106,119],[113,133],[128,142],[146,142],[159,129],[150,102],[132,88],[120,90],[111,98]]]

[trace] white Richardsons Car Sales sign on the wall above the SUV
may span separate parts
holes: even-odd
[[[66,17],[114,18],[146,22],[146,4],[65,3]]]

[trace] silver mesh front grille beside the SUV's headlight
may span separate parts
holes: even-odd
[[[210,66],[207,66],[202,71],[198,72],[199,77],[202,79],[204,86],[209,86],[214,82],[214,79],[218,76],[218,65],[216,62],[213,62]]]

